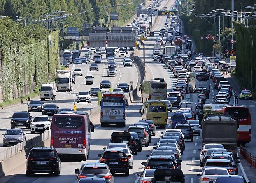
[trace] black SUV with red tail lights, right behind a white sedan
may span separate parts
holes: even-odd
[[[131,155],[126,155],[123,149],[106,149],[103,154],[99,154],[100,163],[105,163],[115,172],[124,173],[129,176],[129,161]]]

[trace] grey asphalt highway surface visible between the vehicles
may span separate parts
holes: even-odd
[[[163,4],[165,4],[167,1],[164,1]],[[168,7],[174,2],[174,0],[170,0],[168,2]],[[162,28],[163,24],[165,23],[166,17],[162,16],[156,23],[156,25],[153,27],[153,30],[155,32],[155,35],[158,35],[159,30]],[[174,87],[175,84],[175,77],[165,65],[162,63],[158,63],[154,60],[152,60],[151,55],[153,53],[153,47],[156,42],[156,36],[155,37],[148,37],[145,41],[145,47],[146,47],[146,66],[147,70],[149,71],[148,75],[146,76],[147,79],[153,79],[153,78],[165,78],[165,82],[167,82],[168,86],[168,92],[171,91],[171,89]],[[142,57],[143,52],[142,50],[137,54],[138,56]],[[138,74],[135,66],[132,68],[124,68],[122,64],[123,58],[117,58],[117,76],[116,77],[107,77],[107,64],[106,61],[102,64],[100,64],[100,70],[99,71],[92,71],[89,72],[88,66],[89,64],[82,64],[82,65],[75,65],[75,68],[81,68],[83,70],[83,76],[82,77],[76,77],[76,84],[73,86],[73,91],[75,93],[79,91],[88,91],[91,87],[98,87],[99,82],[101,80],[110,80],[112,82],[112,86],[116,86],[120,82],[127,82],[129,84],[130,81],[134,82],[134,86],[137,85],[138,81]],[[72,68],[72,65],[70,66]],[[84,77],[87,73],[91,73],[94,75],[94,85],[85,85]],[[211,84],[213,84],[211,82]],[[238,88],[236,86],[233,86],[238,91]],[[72,108],[73,107],[73,91],[72,92],[61,92],[57,93],[56,101],[49,101],[50,103],[56,103],[60,108]],[[105,90],[102,90],[105,91]],[[216,90],[214,88],[211,89],[209,99],[207,99],[206,103],[211,103],[212,97],[216,95]],[[89,110],[97,105],[97,99],[92,98],[92,103],[79,103],[77,104],[77,108],[82,110]],[[233,105],[234,100],[231,98],[230,104]],[[139,119],[141,119],[141,115],[139,113],[139,110],[141,108],[142,103],[139,101],[136,101],[134,103],[131,103],[131,105],[127,108],[127,121],[126,121],[126,127],[120,128],[116,127],[115,125],[112,125],[111,127],[100,127],[100,125],[95,126],[95,132],[92,133],[92,140],[91,140],[91,151],[89,155],[89,159],[86,162],[98,162],[98,154],[101,154],[103,152],[103,147],[106,147],[108,143],[110,143],[110,137],[112,132],[118,132],[118,131],[124,131],[128,128],[129,125],[132,125],[134,122],[137,122]],[[245,105],[250,108],[251,117],[252,117],[252,141],[248,145],[246,145],[251,151],[253,150],[256,152],[256,125],[255,125],[255,119],[256,119],[256,113],[255,113],[255,101],[239,101],[239,105]],[[0,129],[2,132],[4,132],[7,128],[10,127],[10,119],[9,116],[12,115],[15,111],[25,111],[27,110],[27,105],[22,104],[18,106],[13,106],[11,108],[1,110],[0,111]],[[175,112],[176,109],[173,110]],[[169,119],[172,117],[172,113],[169,113]],[[40,114],[40,112],[33,112],[32,115],[35,116],[37,114]],[[98,122],[94,122],[94,124],[100,124]],[[170,128],[170,124],[167,125],[167,128]],[[152,142],[150,143],[150,146],[147,148],[142,148],[142,152],[138,152],[138,155],[134,156],[134,166],[133,169],[130,170],[130,176],[124,177],[123,174],[117,174],[114,177],[115,183],[137,183],[135,180],[137,180],[136,174],[140,174],[143,170],[143,166],[141,165],[141,162],[145,162],[147,157],[146,155],[149,155],[151,150],[153,149],[154,143],[157,143],[159,140],[161,133],[164,129],[157,129],[156,136],[152,137]],[[25,130],[28,134],[26,135],[27,138],[32,138],[35,135],[30,134],[30,131]],[[2,138],[0,139],[0,143],[2,143]],[[200,173],[202,170],[202,167],[199,166],[199,150],[198,148],[202,147],[202,139],[200,139],[199,136],[194,137],[194,142],[186,141],[186,150],[184,151],[184,154],[182,155],[182,163],[181,163],[181,169],[183,173],[185,174],[185,180],[186,183],[198,183],[199,177],[196,176],[197,173]],[[0,151],[6,149],[2,147],[2,144],[0,145]],[[5,176],[4,178],[0,179],[0,182],[6,182],[6,183],[74,183],[75,181],[75,169],[79,168],[82,162],[74,162],[72,160],[68,162],[61,162],[61,174],[59,177],[54,177],[48,174],[40,174],[40,175],[33,175],[31,177],[25,176],[25,167],[22,169],[19,169],[17,171],[12,172],[12,175]],[[239,173],[242,174],[241,169],[239,167]]]

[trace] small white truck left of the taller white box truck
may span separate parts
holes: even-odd
[[[40,98],[41,100],[45,99],[52,99],[55,100],[56,97],[56,83],[41,83],[41,88],[40,88]]]

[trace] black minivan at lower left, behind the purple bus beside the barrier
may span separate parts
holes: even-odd
[[[60,175],[60,158],[55,148],[33,147],[26,162],[26,176],[33,173]]]

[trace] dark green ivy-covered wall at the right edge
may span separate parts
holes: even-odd
[[[246,87],[256,88],[256,27],[234,22],[236,33],[236,73]]]

